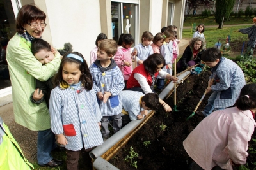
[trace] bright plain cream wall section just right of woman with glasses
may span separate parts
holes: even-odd
[[[63,48],[64,43],[70,42],[73,50],[90,63],[90,51],[101,32],[99,1],[45,0],[45,7],[50,31],[45,30],[43,38],[52,41],[54,48]]]

